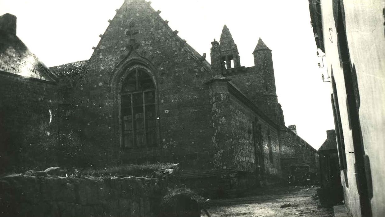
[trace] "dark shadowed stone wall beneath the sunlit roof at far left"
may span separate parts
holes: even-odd
[[[0,172],[55,164],[57,85],[0,71],[0,93]]]

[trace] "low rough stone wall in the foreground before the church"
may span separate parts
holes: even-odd
[[[0,179],[3,216],[154,216],[167,186],[144,177]]]

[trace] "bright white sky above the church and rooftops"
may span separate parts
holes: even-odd
[[[17,35],[47,66],[90,58],[124,0],[0,0],[0,15],[17,16]],[[172,30],[210,61],[211,41],[223,25],[238,46],[242,66],[253,66],[261,37],[273,50],[278,101],[286,126],[318,149],[334,129],[330,82],[323,83],[307,0],[152,0]],[[322,65],[322,62],[321,62]],[[325,76],[326,78],[326,76]]]

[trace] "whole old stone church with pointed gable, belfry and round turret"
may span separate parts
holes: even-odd
[[[56,142],[69,153],[58,164],[175,162],[192,187],[219,190],[280,181],[281,157],[298,141],[281,142],[271,50],[260,39],[255,66],[241,66],[224,26],[208,63],[159,13],[126,0],[89,60],[50,68]]]

